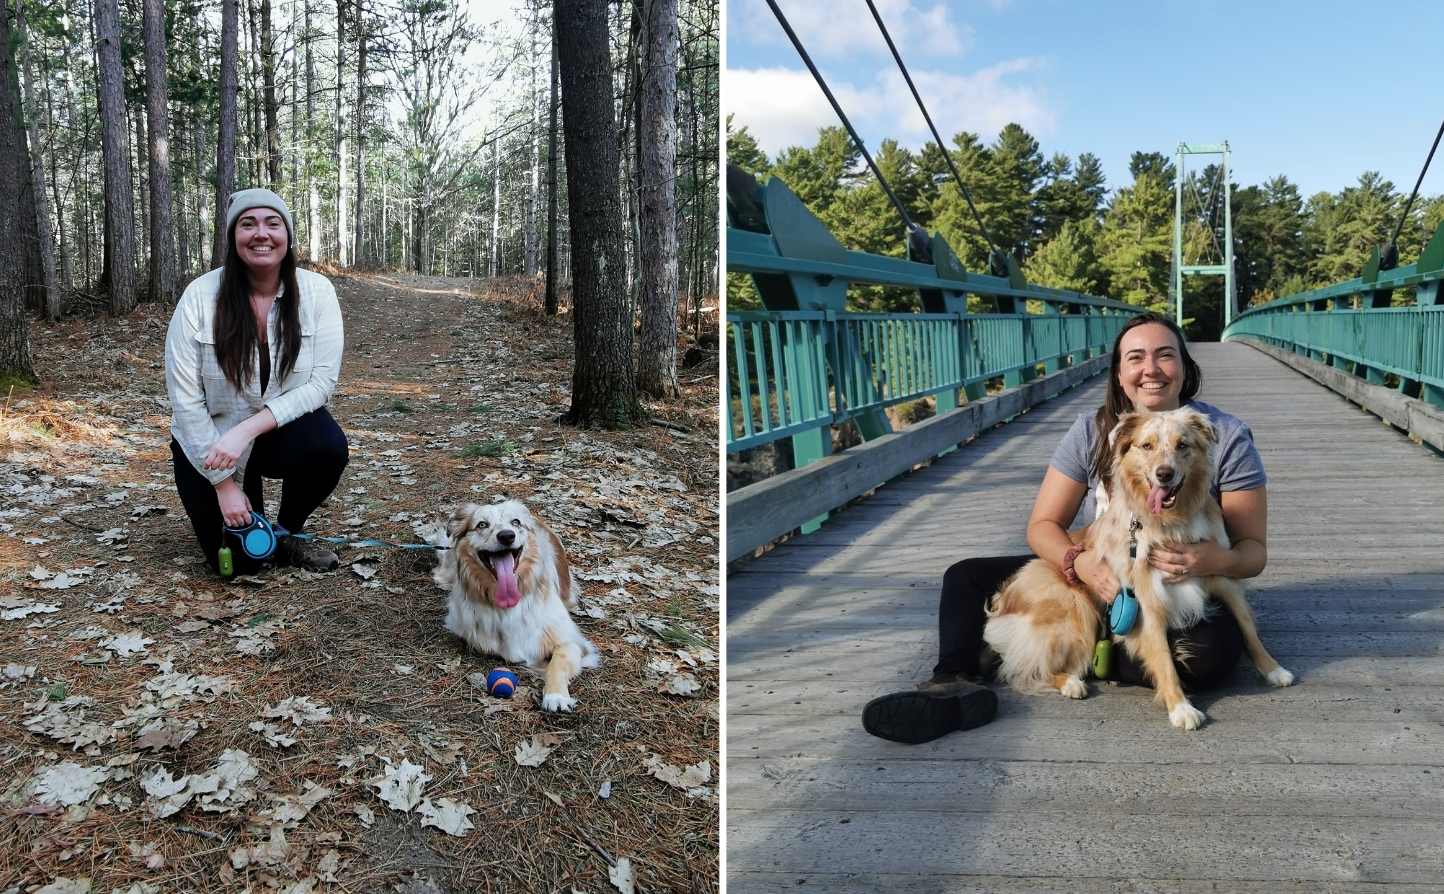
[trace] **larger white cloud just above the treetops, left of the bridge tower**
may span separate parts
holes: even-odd
[[[1057,116],[1044,91],[1022,79],[1035,72],[1037,59],[1012,59],[972,74],[913,71],[927,110],[944,140],[960,130],[991,140],[1015,121],[1035,137],[1053,133]],[[871,74],[871,82],[864,82]],[[884,137],[913,149],[931,140],[927,123],[895,66],[856,72],[856,78],[827,77],[842,110],[877,150]],[[838,126],[827,98],[803,68],[728,69],[723,97],[736,126],[747,126],[768,156],[787,146],[810,146],[819,127]]]

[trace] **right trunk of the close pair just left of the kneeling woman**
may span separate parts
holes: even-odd
[[[150,299],[175,302],[170,240],[170,116],[166,108],[166,6],[144,0],[146,118],[150,131]]]

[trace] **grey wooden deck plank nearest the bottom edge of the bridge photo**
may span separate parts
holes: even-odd
[[[1438,884],[1441,839],[1444,819],[728,812],[735,869]]]

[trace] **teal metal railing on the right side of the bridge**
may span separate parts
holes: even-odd
[[[1252,308],[1223,339],[1253,338],[1444,406],[1441,285],[1444,224],[1417,263],[1379,270],[1375,251],[1359,277]],[[1392,306],[1401,289],[1414,305]]]

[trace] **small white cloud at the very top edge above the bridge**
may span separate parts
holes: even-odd
[[[960,56],[972,48],[972,26],[953,22],[943,3],[926,6],[914,0],[874,0],[874,4],[882,23],[888,26],[902,62],[910,66],[921,56]],[[865,0],[780,0],[778,7],[813,58],[855,53],[888,56],[888,45]],[[791,58],[791,42],[762,0],[734,0],[728,6],[728,16],[729,33],[742,33],[748,40],[775,46]]]

